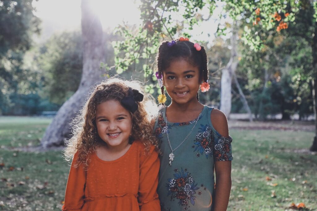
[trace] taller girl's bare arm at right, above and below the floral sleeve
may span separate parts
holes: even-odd
[[[214,109],[210,115],[213,127],[223,137],[229,138],[228,121],[226,116],[218,109]],[[216,190],[214,211],[227,210],[231,190],[231,161],[215,161]]]

